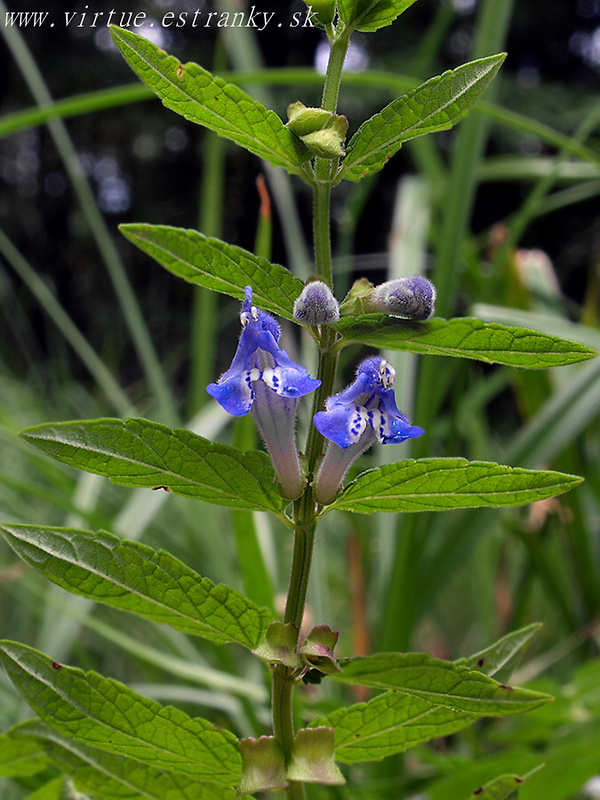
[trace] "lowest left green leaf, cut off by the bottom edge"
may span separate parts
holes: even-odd
[[[46,745],[56,766],[71,776],[78,789],[102,800],[235,800],[236,797],[230,787],[199,782],[67,739],[43,722],[27,722],[21,729]]]

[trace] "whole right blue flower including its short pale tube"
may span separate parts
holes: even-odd
[[[329,439],[315,477],[318,503],[335,500],[352,462],[375,441],[399,444],[425,433],[398,410],[392,388],[395,374],[385,359],[368,358],[358,367],[356,380],[315,414],[315,427]]]

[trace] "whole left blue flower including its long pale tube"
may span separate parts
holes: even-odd
[[[280,330],[269,314],[252,305],[252,287],[246,286],[240,321],[242,335],[231,366],[206,391],[230,414],[249,411],[261,432],[283,497],[302,494],[305,476],[296,445],[296,402],[321,381],[310,377],[279,347]]]

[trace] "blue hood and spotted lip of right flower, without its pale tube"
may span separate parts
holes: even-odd
[[[369,435],[369,429],[380,444],[399,444],[422,436],[423,428],[411,425],[396,406],[395,374],[383,358],[363,361],[354,383],[330,397],[326,410],[315,414],[317,430],[344,450],[357,444],[365,432]]]

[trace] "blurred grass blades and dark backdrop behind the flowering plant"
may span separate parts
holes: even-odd
[[[75,10],[53,4],[59,8]],[[170,8],[149,2],[143,10],[160,19]],[[541,20],[533,3],[420,0],[376,37],[357,38],[354,57],[369,69],[345,79],[340,110],[350,133],[418,80],[500,49],[509,57],[495,94],[455,131],[407,144],[386,170],[334,195],[338,285],[355,275],[376,281],[426,271],[438,285],[441,316],[475,310],[598,349],[599,20],[592,0],[553,4]],[[276,608],[289,564],[283,527],[271,528],[264,515],[249,525],[226,508],[203,506],[199,514],[185,498],[148,497],[81,475],[16,436],[48,419],[135,412],[169,424],[192,420],[210,438],[253,444],[249,427],[226,428],[204,393],[226,366],[237,306],[192,292],[117,225],[198,227],[254,249],[259,198],[248,186],[262,167],[151,99],[105,29],[2,32],[3,518],[143,538]],[[307,69],[319,53],[318,31],[163,34],[161,44],[182,60],[220,73],[252,71],[244,85],[281,116],[296,99],[318,102],[320,81]],[[58,106],[64,121],[56,112],[49,119],[49,96],[73,98]],[[268,171],[267,180],[274,223],[266,233],[262,223],[259,234],[272,234],[274,261],[306,277],[308,194],[280,174]],[[539,620],[519,679],[535,679],[558,698],[523,718],[479,723],[404,763],[353,767],[357,796],[466,798],[496,775],[524,776],[546,762],[519,797],[581,797],[600,773],[600,367],[531,373],[399,352],[390,358],[403,409],[427,429],[410,455],[551,467],[585,475],[586,483],[558,500],[502,512],[402,520],[340,513],[324,521],[309,605],[313,622],[343,632],[340,653],[410,649],[459,658]],[[3,636],[191,714],[201,710],[243,735],[263,732],[267,684],[253,659],[75,599],[1,547]],[[326,716],[344,691],[307,688],[308,706]],[[2,730],[30,716],[4,677],[0,698]],[[33,791],[31,772],[5,782],[3,796]]]

